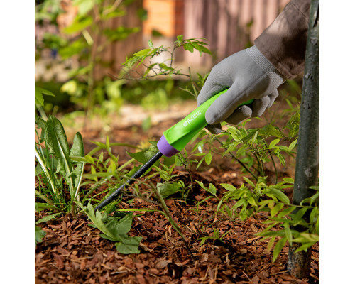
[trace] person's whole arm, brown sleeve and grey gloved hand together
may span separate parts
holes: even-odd
[[[302,72],[307,38],[309,0],[293,0],[256,38],[255,46],[241,50],[215,65],[197,97],[200,106],[214,94],[229,90],[206,112],[209,130],[220,131],[222,121],[238,124],[261,116],[278,96],[277,88],[286,79]],[[254,99],[251,106],[238,107]]]

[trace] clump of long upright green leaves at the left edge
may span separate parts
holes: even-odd
[[[73,202],[75,199],[80,200],[78,193],[84,163],[75,163],[70,157],[84,156],[82,136],[77,132],[70,148],[65,130],[54,116],[48,116],[47,121],[36,116],[36,124],[41,129],[41,136],[36,130],[38,142],[35,145],[35,157],[38,161],[36,173],[41,184],[37,195],[55,209],[71,209],[74,213]],[[45,143],[45,146],[41,143]],[[66,198],[67,192],[70,195],[69,201]]]

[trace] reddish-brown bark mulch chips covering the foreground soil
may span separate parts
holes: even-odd
[[[224,173],[224,179],[232,174]],[[209,182],[205,173],[195,178]],[[196,202],[208,193],[196,187],[191,196]],[[42,224],[46,235],[36,248],[36,283],[319,283],[319,244],[312,247],[309,280],[294,278],[287,272],[288,246],[272,263],[268,242],[255,236],[266,227],[263,214],[246,221],[214,217],[217,201],[212,199],[200,207],[179,199],[167,200],[167,205],[194,258],[160,212],[136,212],[129,234],[143,239],[141,253],[131,255],[118,253],[114,242],[102,239],[86,215],[67,214]],[[159,209],[138,198],[119,204],[119,209],[132,208]],[[214,236],[214,231],[228,233],[222,241],[210,239],[201,246],[200,238]]]

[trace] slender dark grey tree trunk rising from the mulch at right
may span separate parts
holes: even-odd
[[[308,26],[300,109],[300,132],[297,148],[293,204],[315,194],[320,168],[320,1],[312,0]],[[307,216],[305,216],[307,218]],[[302,228],[296,228],[298,231]],[[310,275],[311,249],[295,253],[300,244],[288,251],[288,271],[297,278]]]

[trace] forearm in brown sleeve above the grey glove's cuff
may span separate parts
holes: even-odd
[[[256,38],[258,50],[283,77],[293,78],[305,67],[310,0],[292,0]]]

